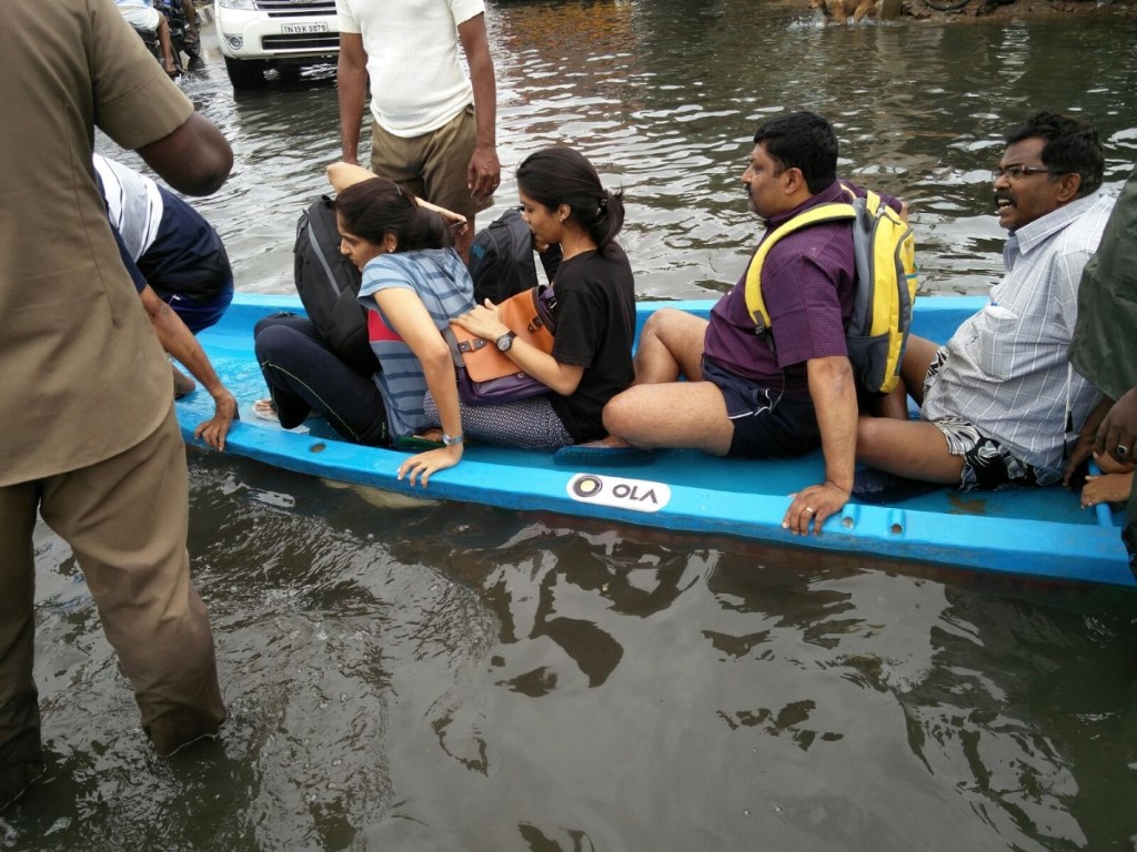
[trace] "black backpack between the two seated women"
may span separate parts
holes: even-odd
[[[542,252],[541,265],[551,282],[561,265],[561,248],[553,245]],[[533,234],[517,210],[506,210],[474,235],[470,245],[470,276],[474,279],[478,304],[487,299],[500,304],[537,286]]]

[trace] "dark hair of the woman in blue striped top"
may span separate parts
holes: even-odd
[[[413,192],[385,177],[348,186],[337,195],[335,211],[348,231],[370,242],[381,243],[393,234],[396,252],[445,249],[453,243],[441,216],[420,207]]]

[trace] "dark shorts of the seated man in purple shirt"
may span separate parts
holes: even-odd
[[[794,399],[780,390],[731,373],[703,358],[703,378],[722,391],[727,416],[735,426],[728,456],[769,459],[803,456],[821,444],[813,400]]]

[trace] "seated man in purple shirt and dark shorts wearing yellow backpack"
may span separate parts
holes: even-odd
[[[846,201],[832,126],[812,112],[760,125],[742,183],[765,220],[763,239],[811,207]],[[896,199],[885,201],[903,212]],[[857,391],[845,326],[854,278],[852,227],[822,223],[788,234],[766,256],[764,334],[746,308],[745,272],[709,321],[656,311],[640,335],[636,384],[608,402],[605,427],[632,446],[714,456],[800,456],[820,444],[825,481],[802,488],[782,519],[795,534],[811,524],[820,532],[853,490]]]

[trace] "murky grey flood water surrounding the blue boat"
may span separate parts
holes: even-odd
[[[491,215],[525,153],[578,145],[626,192],[644,298],[738,277],[749,136],[788,108],[833,120],[845,176],[910,202],[930,294],[998,277],[988,175],[1034,111],[1097,124],[1111,190],[1137,161],[1131,17],[823,28],[804,0],[531,0],[488,20]],[[333,77],[234,98],[214,56],[183,82],[236,152],[199,208],[241,290],[291,289],[297,215],[339,153]],[[1131,593],[396,507],[197,451],[190,511],[222,738],[152,755],[41,528],[48,778],[0,847],[1137,847]]]

